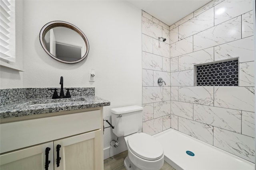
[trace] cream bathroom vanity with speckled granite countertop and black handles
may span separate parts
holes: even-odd
[[[110,102],[94,95],[69,100],[28,98],[1,107],[1,170],[103,169],[103,106]]]

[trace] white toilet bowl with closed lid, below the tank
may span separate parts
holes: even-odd
[[[154,137],[146,133],[135,133],[124,137],[124,140],[128,150],[126,169],[159,170],[163,166],[164,150]]]

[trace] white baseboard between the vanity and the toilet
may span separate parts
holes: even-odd
[[[110,158],[111,156],[114,156],[116,154],[119,154],[121,152],[124,152],[127,150],[125,141],[122,141],[119,143],[118,147],[107,147],[104,148],[104,160],[107,158]]]

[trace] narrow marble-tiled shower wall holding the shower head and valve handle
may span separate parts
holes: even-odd
[[[150,135],[171,128],[170,63],[169,26],[142,11],[143,132]]]

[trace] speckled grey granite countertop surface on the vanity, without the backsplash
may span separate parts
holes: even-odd
[[[0,119],[102,106],[110,106],[110,102],[94,95],[72,96],[71,98],[62,99],[29,98],[16,103],[2,105]]]

